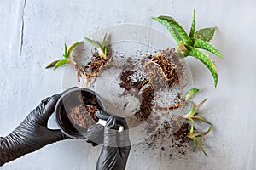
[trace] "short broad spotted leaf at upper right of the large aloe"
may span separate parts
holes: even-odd
[[[212,40],[212,37],[214,36],[215,30],[216,27],[210,27],[195,31],[194,38],[210,42]]]

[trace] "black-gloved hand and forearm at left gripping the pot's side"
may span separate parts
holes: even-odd
[[[0,138],[0,166],[47,144],[67,139],[60,130],[47,128],[49,116],[60,97],[61,94],[56,94],[41,101],[12,133]]]

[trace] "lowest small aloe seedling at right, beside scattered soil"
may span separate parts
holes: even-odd
[[[205,156],[208,156],[207,152],[204,150],[200,140],[198,140],[197,137],[202,137],[204,135],[207,135],[207,133],[209,133],[211,130],[212,130],[212,125],[210,127],[208,127],[206,132],[194,133],[194,127],[192,125],[191,128],[190,128],[189,134],[187,135],[187,137],[189,137],[189,139],[192,139],[194,141],[194,150],[196,150],[197,145],[199,145],[202,152],[205,154]]]

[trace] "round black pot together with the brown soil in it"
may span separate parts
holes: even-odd
[[[95,112],[97,110],[106,110],[106,105],[101,97],[88,88],[74,88],[68,90],[61,95],[61,98],[55,105],[56,123],[58,127],[60,127],[61,132],[71,139],[83,139],[84,134],[87,133],[87,127],[98,122],[95,115],[87,116],[90,117],[90,119],[87,120],[83,120],[83,116],[78,115],[83,112],[80,110],[81,107],[85,108],[85,105],[94,105],[96,107],[94,107],[94,109],[96,109],[94,110]],[[74,111],[76,111],[76,113],[74,113]],[[75,118],[78,119],[76,120]],[[82,124],[80,123],[81,121]]]

